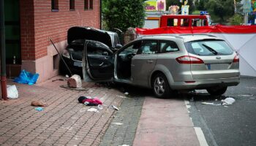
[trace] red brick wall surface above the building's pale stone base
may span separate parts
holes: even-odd
[[[21,55],[23,61],[35,61],[48,55],[49,38],[53,42],[67,39],[72,26],[99,28],[99,0],[93,9],[84,10],[84,0],[75,0],[75,10],[69,10],[69,0],[59,0],[59,11],[51,11],[51,0],[20,0]]]

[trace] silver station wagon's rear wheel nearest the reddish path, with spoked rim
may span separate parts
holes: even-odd
[[[169,82],[165,77],[165,74],[162,73],[158,73],[154,76],[152,82],[152,89],[154,95],[157,96],[157,98],[168,98],[171,95]]]

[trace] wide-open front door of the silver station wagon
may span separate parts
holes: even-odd
[[[83,50],[83,80],[110,81],[113,77],[113,52],[102,42],[86,40]]]

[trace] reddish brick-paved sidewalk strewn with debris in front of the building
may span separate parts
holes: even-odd
[[[60,88],[66,81],[54,77],[38,85],[17,85],[18,99],[0,101],[0,145],[99,145],[124,94],[115,89],[86,83],[87,91]],[[52,82],[52,80],[56,80]],[[104,108],[87,112],[90,107],[78,103],[79,96],[97,96]],[[45,101],[48,107],[38,112],[31,101]]]

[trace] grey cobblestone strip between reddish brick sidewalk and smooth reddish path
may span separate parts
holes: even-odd
[[[145,97],[125,98],[113,118],[100,146],[132,145]],[[123,125],[116,125],[123,123]]]

